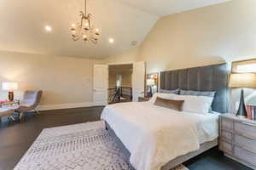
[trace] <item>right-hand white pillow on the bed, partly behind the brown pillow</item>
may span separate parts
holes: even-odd
[[[176,95],[174,99],[184,100],[183,111],[199,114],[207,114],[213,100],[212,97],[192,95]]]

